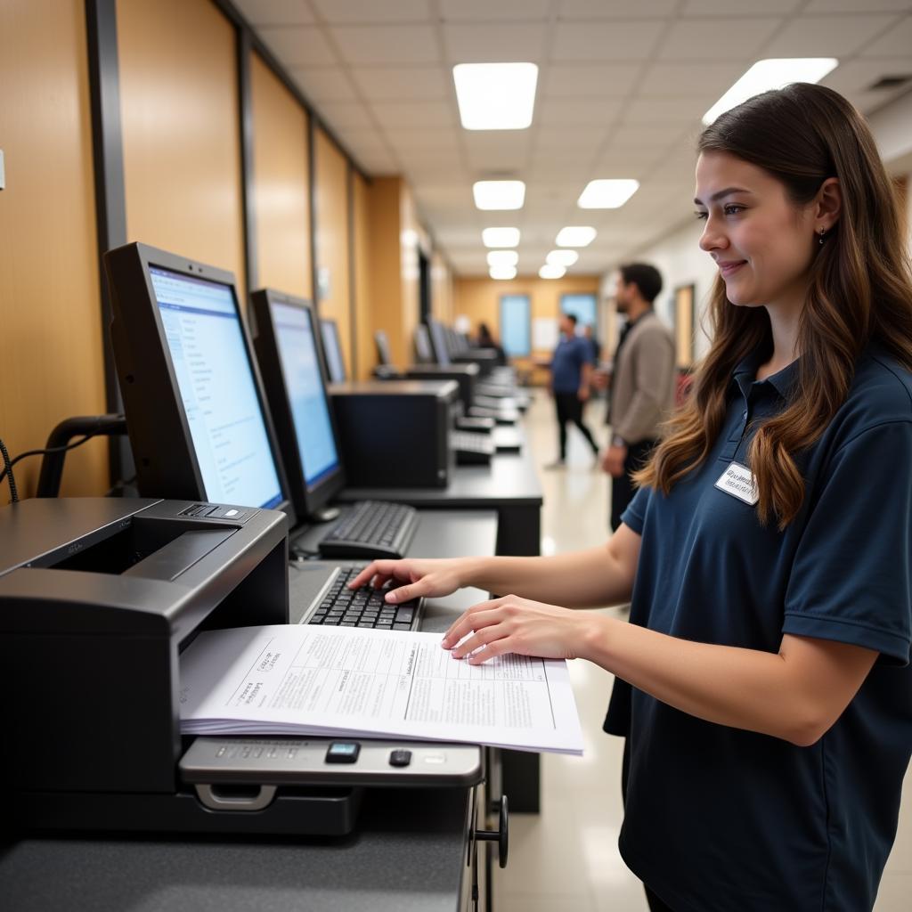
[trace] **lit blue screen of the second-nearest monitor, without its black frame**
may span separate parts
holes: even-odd
[[[313,491],[339,469],[314,329],[303,307],[273,301],[270,310],[304,480]]]

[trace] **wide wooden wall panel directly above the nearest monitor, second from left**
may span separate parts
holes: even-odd
[[[127,235],[244,288],[235,32],[210,0],[118,0]]]

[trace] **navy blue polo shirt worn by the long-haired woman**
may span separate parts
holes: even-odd
[[[627,865],[676,912],[859,912],[874,904],[912,751],[912,377],[879,349],[798,461],[784,532],[715,487],[746,462],[751,423],[782,410],[796,364],[734,372],[709,458],[622,520],[642,536],[630,622],[779,651],[783,634],[880,656],[811,747],[674,710],[617,681],[606,731],[628,734]],[[719,687],[724,688],[724,680]]]

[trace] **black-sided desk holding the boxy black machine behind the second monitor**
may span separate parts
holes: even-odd
[[[496,510],[496,554],[540,554],[542,485],[524,432],[516,432],[523,438],[521,452],[497,453],[490,466],[456,466],[446,488],[346,488],[338,499],[398,501],[450,510]]]

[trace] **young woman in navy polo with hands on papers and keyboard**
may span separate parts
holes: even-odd
[[[912,285],[889,179],[844,98],[797,84],[700,138],[714,340],[623,524],[540,558],[378,561],[459,586],[472,663],[617,675],[620,849],[653,908],[874,905],[912,751]],[[559,606],[631,600],[630,623]]]

